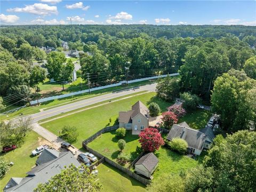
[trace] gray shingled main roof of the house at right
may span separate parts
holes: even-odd
[[[181,138],[187,141],[188,147],[203,150],[207,135],[186,126],[174,124],[167,135],[167,139]]]

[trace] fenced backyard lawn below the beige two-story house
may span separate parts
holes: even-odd
[[[125,137],[122,139],[126,141],[123,153],[130,154],[132,159],[135,159],[141,153],[138,135],[132,135],[132,131],[128,130],[126,131]],[[119,138],[116,137],[115,131],[110,131],[100,135],[97,139],[90,142],[88,146],[113,161],[116,161],[117,155],[120,152],[117,146],[118,140]],[[126,166],[127,165],[129,164],[126,164]]]

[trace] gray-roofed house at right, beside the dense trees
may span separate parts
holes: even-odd
[[[181,138],[187,141],[190,153],[200,155],[203,149],[209,149],[215,135],[212,128],[206,126],[204,129],[191,129],[186,122],[174,124],[167,135],[167,140]]]

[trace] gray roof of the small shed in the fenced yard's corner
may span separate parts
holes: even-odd
[[[158,158],[153,153],[148,153],[143,155],[136,163],[135,165],[143,165],[145,168],[151,172],[156,164],[158,163]]]

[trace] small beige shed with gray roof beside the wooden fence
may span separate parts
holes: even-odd
[[[158,166],[158,158],[153,153],[143,155],[135,163],[135,171],[147,178],[153,179],[152,174]]]

